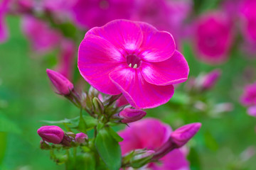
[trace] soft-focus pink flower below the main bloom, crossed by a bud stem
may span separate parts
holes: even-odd
[[[129,127],[119,132],[119,135],[124,139],[119,142],[122,155],[134,149],[155,150],[164,145],[171,135],[171,127],[154,118],[146,118],[139,122],[130,123]],[[162,157],[160,161],[162,164],[151,163],[146,168],[153,170],[189,169],[188,161],[181,149],[174,149]]]

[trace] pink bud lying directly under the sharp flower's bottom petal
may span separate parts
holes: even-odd
[[[142,119],[146,115],[145,111],[140,109],[124,108],[119,113],[119,117],[122,118],[122,123],[132,123]]]

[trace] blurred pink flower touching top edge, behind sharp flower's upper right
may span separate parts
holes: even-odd
[[[150,23],[159,30],[169,31],[175,40],[185,33],[185,20],[192,9],[190,0],[137,0],[132,19]]]

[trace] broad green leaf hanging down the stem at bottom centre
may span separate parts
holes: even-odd
[[[95,140],[95,147],[109,169],[119,170],[122,161],[121,148],[107,129],[103,128],[99,131]]]

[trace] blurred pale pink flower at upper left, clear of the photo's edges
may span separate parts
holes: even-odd
[[[24,16],[21,27],[36,52],[45,53],[52,50],[62,38],[57,30],[33,16]]]

